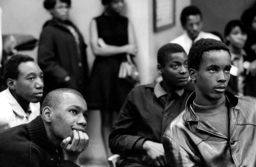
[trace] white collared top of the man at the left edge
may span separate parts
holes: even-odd
[[[40,113],[40,103],[30,103],[27,113],[12,96],[9,88],[0,92],[0,132],[32,121]]]

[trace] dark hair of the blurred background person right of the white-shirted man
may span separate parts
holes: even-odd
[[[245,26],[245,24],[242,21],[240,21],[240,20],[230,20],[227,23],[227,25],[225,26],[224,37],[226,38],[226,36],[228,36],[231,33],[233,28],[235,28],[237,26],[241,29],[241,31],[243,33],[248,35],[248,28],[247,28],[247,26]],[[226,44],[229,44],[229,41],[226,41]]]

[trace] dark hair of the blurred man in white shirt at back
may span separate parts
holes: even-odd
[[[190,15],[200,15],[201,20],[203,19],[202,13],[198,7],[193,6],[193,5],[188,6],[182,10],[181,15],[180,15],[180,21],[181,21],[181,25],[183,27],[186,25],[187,17]]]

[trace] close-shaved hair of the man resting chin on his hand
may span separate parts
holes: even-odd
[[[42,102],[42,107],[41,107],[40,113],[42,113],[42,109],[44,109],[45,107],[50,107],[50,108],[56,109],[56,107],[63,100],[64,93],[73,93],[73,94],[76,94],[77,96],[79,96],[80,98],[84,99],[82,94],[74,89],[70,89],[70,88],[55,89],[55,90],[50,91],[46,95],[44,102]]]

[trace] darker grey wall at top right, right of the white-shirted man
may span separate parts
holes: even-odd
[[[231,19],[240,19],[243,11],[255,0],[191,0],[203,14],[203,30],[218,31],[223,35],[225,25]]]

